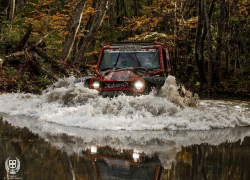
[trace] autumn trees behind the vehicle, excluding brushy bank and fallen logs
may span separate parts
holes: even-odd
[[[29,30],[29,41],[48,35],[40,44],[45,53],[76,69],[93,63],[101,44],[153,40],[169,46],[174,74],[192,87],[220,89],[226,80],[249,88],[250,1],[0,0],[0,4],[0,56],[8,55],[4,49],[18,44]]]

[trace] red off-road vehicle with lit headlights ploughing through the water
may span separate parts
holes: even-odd
[[[96,77],[85,86],[103,96],[147,94],[161,87],[170,73],[167,48],[154,42],[118,42],[103,46]]]

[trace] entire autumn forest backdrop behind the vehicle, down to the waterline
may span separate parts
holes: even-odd
[[[92,75],[102,45],[157,41],[204,96],[250,97],[249,0],[0,0],[0,92]]]

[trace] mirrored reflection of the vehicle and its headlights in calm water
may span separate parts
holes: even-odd
[[[95,176],[98,179],[158,180],[160,178],[161,162],[157,157],[149,158],[133,150],[115,150],[97,146],[92,146],[85,153],[92,159]]]

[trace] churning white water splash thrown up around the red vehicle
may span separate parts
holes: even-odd
[[[249,112],[234,106],[218,108],[203,102],[200,108],[189,107],[196,106],[198,97],[185,89],[181,97],[173,76],[167,78],[159,95],[112,99],[74,81],[74,77],[61,79],[42,95],[1,95],[0,112],[99,130],[208,130],[250,125]]]

